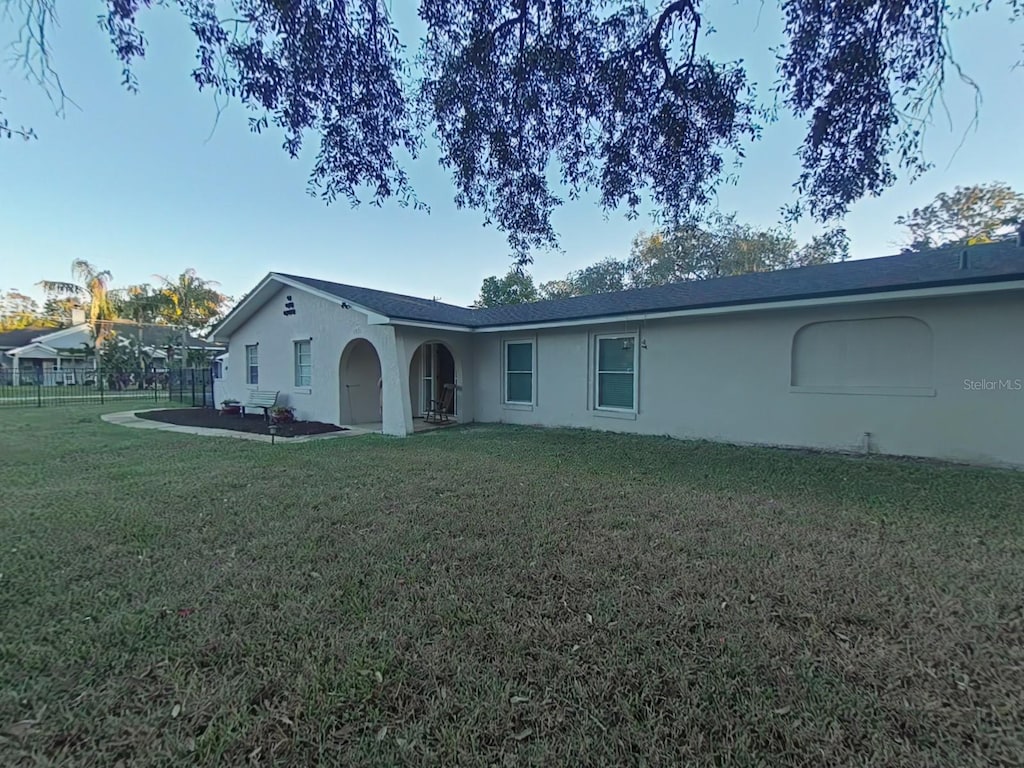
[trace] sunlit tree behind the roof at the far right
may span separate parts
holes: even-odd
[[[924,208],[896,219],[907,229],[908,251],[991,243],[1020,222],[1024,222],[1024,195],[1001,181],[940,193]]]

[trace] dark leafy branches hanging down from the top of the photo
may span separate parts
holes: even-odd
[[[309,180],[327,201],[421,205],[404,163],[434,136],[457,203],[483,211],[528,260],[555,242],[553,179],[631,214],[647,195],[674,224],[712,199],[774,104],[805,123],[797,188],[818,218],[891,185],[894,166],[923,172],[949,26],[993,4],[785,0],[767,98],[742,61],[703,42],[714,19],[699,0],[419,0],[418,48],[385,0],[106,0],[101,26],[132,90],[155,5],[186,17],[200,89],[241,101],[254,131],[279,128],[293,157],[318,142]],[[1024,15],[1024,0],[997,5]],[[59,106],[56,6],[0,0],[25,23],[28,74]]]

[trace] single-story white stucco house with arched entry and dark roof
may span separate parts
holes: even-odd
[[[213,338],[223,395],[387,434],[453,384],[460,422],[1024,466],[1016,244],[487,309],[271,272]]]

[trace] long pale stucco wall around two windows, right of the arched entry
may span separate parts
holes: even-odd
[[[798,331],[884,317],[927,325],[927,379],[919,371],[913,388],[873,393],[795,386]],[[636,414],[594,408],[594,334],[621,331],[640,340]],[[536,340],[531,407],[502,402],[502,341],[517,338]],[[885,454],[1024,466],[1020,293],[476,334],[473,353],[477,421],[842,451],[861,451],[866,440]],[[926,365],[920,344],[907,353]],[[872,370],[905,368],[898,344],[867,354]]]

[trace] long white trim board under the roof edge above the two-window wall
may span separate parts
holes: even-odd
[[[549,321],[545,323],[513,324],[506,326],[485,326],[471,329],[475,333],[509,333],[513,331],[534,331],[543,328],[565,328],[569,326],[600,326],[607,323],[638,323],[667,317],[687,317],[715,314],[733,314],[770,309],[800,309],[804,307],[830,306],[835,304],[861,304],[877,301],[900,301],[903,299],[931,299],[942,296],[995,293],[1000,291],[1024,290],[1024,280],[1001,283],[974,283],[967,286],[945,286],[942,288],[914,288],[905,291],[880,291],[877,293],[847,294],[819,299],[791,299],[786,301],[761,301],[753,304],[700,307],[697,309],[672,309],[666,311],[637,312],[634,314],[601,314],[580,319]]]

